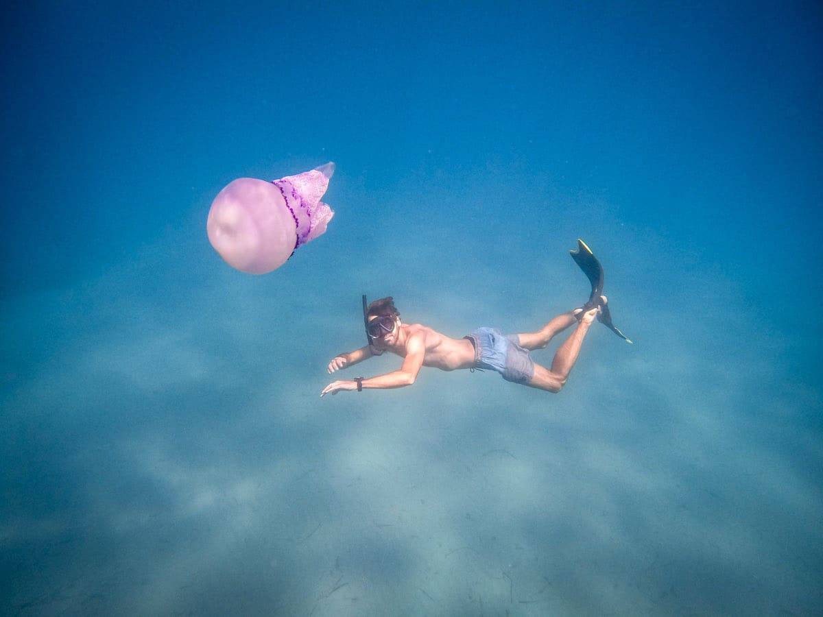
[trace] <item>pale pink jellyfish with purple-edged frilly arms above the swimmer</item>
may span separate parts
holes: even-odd
[[[212,247],[231,267],[265,274],[326,231],[334,212],[320,201],[334,174],[327,163],[266,182],[232,180],[217,193],[206,220]]]

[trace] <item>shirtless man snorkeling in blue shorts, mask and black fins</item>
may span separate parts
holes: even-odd
[[[504,336],[496,328],[481,327],[462,339],[453,339],[419,323],[403,323],[391,297],[375,300],[367,306],[364,296],[363,315],[368,345],[337,355],[329,362],[328,373],[358,364],[387,350],[402,357],[403,364],[399,370],[376,377],[329,383],[320,396],[342,391],[360,392],[364,387],[411,386],[423,366],[444,371],[491,369],[500,373],[506,381],[546,392],[560,392],[595,318],[631,342],[611,324],[607,298],[600,293],[603,283],[600,263],[582,240],[578,241],[578,248],[571,251],[571,255],[591,281],[592,294],[584,306],[558,315],[537,332]],[[551,362],[551,369],[532,360],[529,351],[546,347],[552,338],[575,323],[577,327],[560,345]]]

